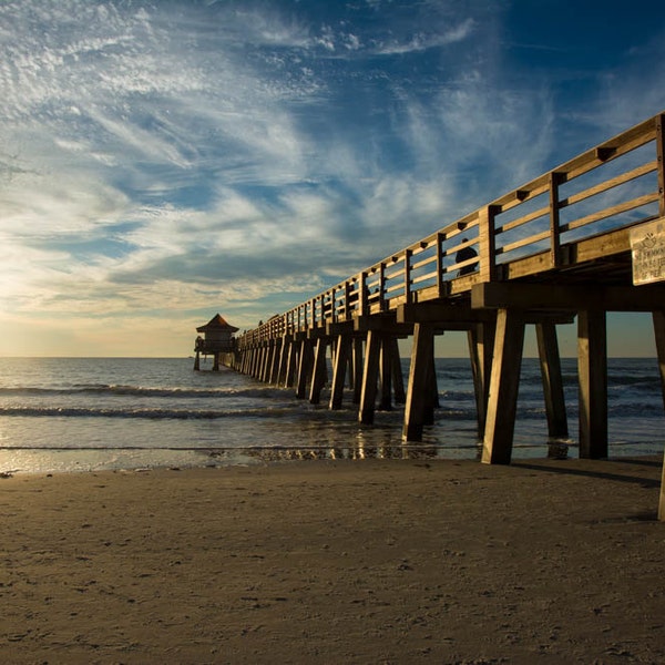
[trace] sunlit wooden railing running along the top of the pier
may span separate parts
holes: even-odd
[[[625,250],[620,232],[665,214],[664,119],[658,114],[587,150],[270,318],[239,336],[238,347]]]

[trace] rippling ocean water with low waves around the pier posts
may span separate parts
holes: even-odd
[[[408,360],[403,361],[405,380]],[[193,360],[0,358],[0,472],[49,472],[367,457],[478,457],[468,359],[437,360],[441,408],[421,444],[402,446],[403,410],[357,422],[357,407],[329,411],[293,389]],[[577,457],[576,360],[563,359],[570,457]],[[662,453],[663,397],[654,359],[610,360],[610,454]],[[522,365],[514,458],[549,450],[540,368]]]

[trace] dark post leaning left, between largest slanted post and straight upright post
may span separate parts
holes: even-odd
[[[556,326],[551,323],[536,324],[535,334],[541,377],[543,379],[545,412],[548,415],[548,433],[552,438],[567,437],[567,417],[565,413]]]

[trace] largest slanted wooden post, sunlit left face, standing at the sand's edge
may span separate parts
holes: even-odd
[[[523,348],[522,314],[514,309],[499,309],[482,444],[485,464],[510,464]]]

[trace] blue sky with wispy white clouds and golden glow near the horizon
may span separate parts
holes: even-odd
[[[665,110],[655,0],[9,0],[0,51],[0,356],[191,355]]]

